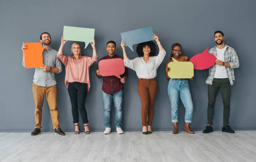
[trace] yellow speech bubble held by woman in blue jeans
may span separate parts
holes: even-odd
[[[168,71],[169,78],[181,79],[192,78],[194,75],[194,65],[192,62],[179,62],[172,57],[173,62],[168,64],[170,70]]]

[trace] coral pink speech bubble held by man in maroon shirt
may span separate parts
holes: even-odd
[[[99,62],[100,75],[116,76],[121,79],[120,75],[125,72],[124,62],[121,58],[105,59]]]

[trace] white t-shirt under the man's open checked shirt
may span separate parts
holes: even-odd
[[[224,61],[224,52],[227,49],[227,46],[225,46],[223,49],[219,49],[216,47],[217,50],[217,60],[220,60],[222,62]],[[225,69],[226,67],[223,65],[216,65],[216,70],[215,70],[215,74],[214,77],[215,78],[227,78],[228,74],[227,74],[227,70]]]

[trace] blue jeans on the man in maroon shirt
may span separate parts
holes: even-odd
[[[102,91],[103,97],[103,106],[104,106],[104,124],[106,127],[110,128],[110,109],[111,109],[111,101],[113,99],[115,105],[115,125],[116,127],[123,126],[123,90],[120,90],[114,94],[107,94]]]

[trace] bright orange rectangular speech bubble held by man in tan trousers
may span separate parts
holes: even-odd
[[[25,68],[43,67],[43,50],[41,42],[24,43]]]

